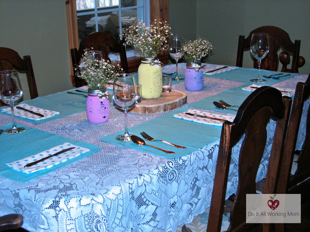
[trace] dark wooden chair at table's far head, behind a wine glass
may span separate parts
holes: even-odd
[[[250,32],[249,36],[245,38],[245,36],[239,36],[238,42],[238,50],[237,50],[237,67],[242,67],[243,63],[243,52],[245,49],[250,48],[250,42],[253,33],[264,32],[268,33],[269,37],[269,52],[265,58],[263,58],[261,62],[261,69],[269,70],[269,71],[277,71],[280,62],[282,63],[281,72],[292,72],[298,73],[298,68],[302,67],[305,64],[305,59],[302,56],[299,56],[300,49],[300,40],[295,40],[293,43],[290,40],[290,36],[281,28],[275,26],[263,26],[254,29]],[[278,56],[277,52],[280,47],[284,50]],[[292,57],[292,67],[290,69],[287,68],[287,65],[290,63],[290,55]],[[254,60],[254,68],[258,68],[257,60]]]

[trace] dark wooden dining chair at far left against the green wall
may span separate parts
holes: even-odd
[[[34,99],[38,97],[37,84],[34,78],[32,62],[29,55],[24,56],[23,59],[13,49],[0,47],[0,71],[4,70],[16,70],[20,73],[25,72],[27,75],[30,98]]]

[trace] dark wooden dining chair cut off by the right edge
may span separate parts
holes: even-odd
[[[304,103],[309,99],[309,97],[310,74],[305,83],[299,82],[296,86],[292,111],[290,115],[290,122],[286,135],[284,153],[281,162],[281,175],[279,177],[279,183],[277,186],[278,193],[301,194],[302,212],[303,210],[305,210],[304,212],[309,212],[308,207],[310,202],[310,107],[307,106],[308,109],[304,109],[304,107],[306,107],[306,104]],[[306,116],[306,132],[304,135],[302,149],[298,153],[297,169],[295,172],[291,172],[303,110],[308,110]],[[300,224],[294,223],[293,225],[288,224],[287,226],[292,226],[298,231],[309,230],[309,213],[302,213]],[[281,226],[277,225],[277,227],[281,228],[278,231],[283,230]]]

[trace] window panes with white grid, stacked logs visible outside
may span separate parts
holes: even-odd
[[[138,21],[149,24],[149,0],[76,0],[79,41],[92,32],[122,39],[122,29]]]

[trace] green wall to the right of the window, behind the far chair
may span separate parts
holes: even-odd
[[[196,6],[196,11],[191,5]],[[273,25],[285,30],[291,41],[301,40],[299,55],[305,58],[306,64],[299,72],[307,75],[310,73],[309,9],[309,0],[169,0],[172,31],[182,32],[184,38],[191,39],[196,33],[214,45],[213,54],[206,62],[236,65],[239,35],[247,37],[255,28]],[[196,17],[196,28],[191,23],[193,17]],[[253,67],[250,52],[244,56],[243,67]]]

